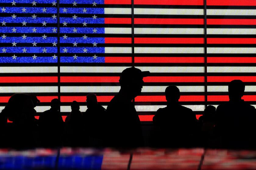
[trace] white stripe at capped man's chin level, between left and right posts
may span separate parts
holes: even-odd
[[[143,86],[142,93],[163,93],[167,86]],[[180,92],[204,92],[204,86],[177,86]],[[118,93],[120,86],[61,86],[61,93]]]

